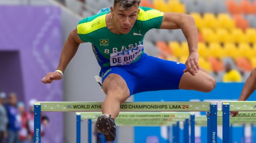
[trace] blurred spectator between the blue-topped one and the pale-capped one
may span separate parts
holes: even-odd
[[[20,143],[28,143],[28,112],[26,112],[25,105],[23,102],[18,103],[18,110],[21,117],[21,130],[19,131],[19,140]]]

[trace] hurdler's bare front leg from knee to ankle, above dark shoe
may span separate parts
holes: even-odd
[[[115,119],[120,112],[120,103],[129,97],[129,89],[125,80],[118,74],[109,74],[103,82],[106,98],[102,103],[102,114],[111,115]]]

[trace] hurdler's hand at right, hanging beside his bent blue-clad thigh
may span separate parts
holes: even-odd
[[[195,75],[195,73],[197,73],[197,71],[200,69],[198,59],[198,52],[191,52],[185,63],[186,69],[184,70],[184,72],[190,72],[190,74]]]

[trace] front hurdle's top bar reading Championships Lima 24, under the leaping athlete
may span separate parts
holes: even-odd
[[[41,111],[47,112],[95,112],[101,110],[102,102],[40,102]],[[121,111],[209,111],[210,102],[126,102]]]

